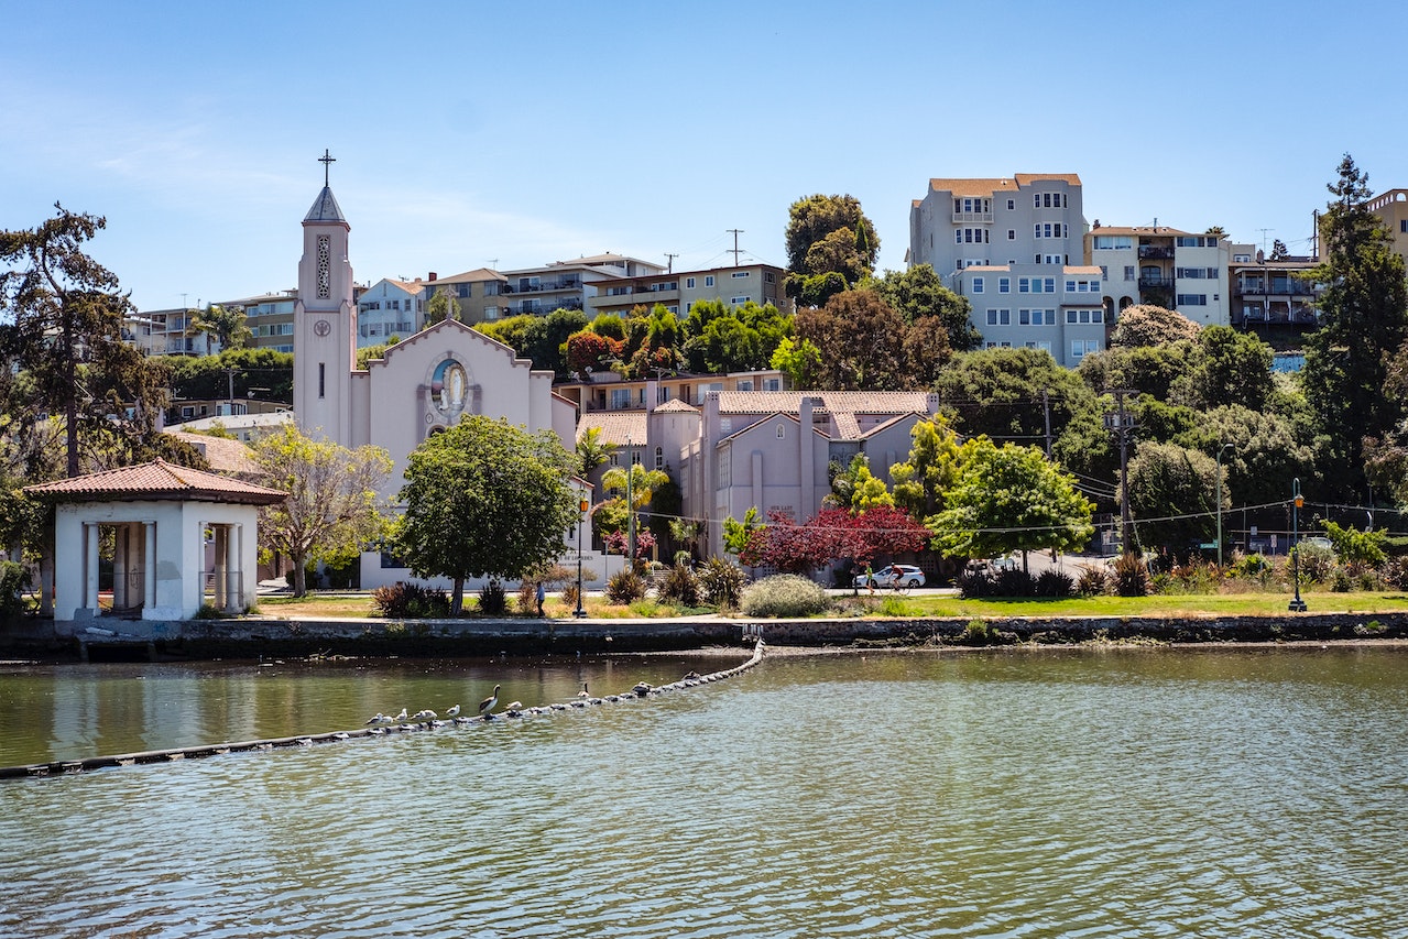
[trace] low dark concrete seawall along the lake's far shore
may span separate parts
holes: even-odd
[[[104,659],[297,655],[476,656],[608,653],[734,646],[1043,645],[1408,639],[1408,612],[1277,617],[988,617],[924,619],[197,619],[100,621],[61,636],[41,624],[0,632],[17,652]],[[973,624],[980,624],[974,628]]]

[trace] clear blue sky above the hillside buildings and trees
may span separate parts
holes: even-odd
[[[0,0],[0,228],[55,201],[139,308],[293,287],[322,184],[359,282],[614,251],[784,265],[850,193],[904,265],[934,176],[1308,252],[1345,152],[1408,187],[1408,7]],[[183,300],[184,297],[184,300]]]

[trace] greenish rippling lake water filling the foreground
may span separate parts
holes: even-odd
[[[648,701],[0,781],[0,935],[1405,936],[1405,666],[1319,646],[769,657]],[[689,667],[11,672],[0,763]]]

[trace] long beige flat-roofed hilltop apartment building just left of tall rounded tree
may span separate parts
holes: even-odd
[[[786,275],[781,267],[755,263],[624,277],[598,284],[597,294],[587,297],[587,310],[591,315],[627,315],[639,305],[663,304],[670,313],[684,317],[701,300],[719,300],[734,307],[749,301],[759,305],[770,303],[779,310],[791,310],[794,304],[783,293]]]

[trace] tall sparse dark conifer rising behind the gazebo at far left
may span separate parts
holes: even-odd
[[[166,366],[122,339],[132,304],[117,276],[83,253],[107,221],[55,210],[37,228],[0,231],[0,355],[27,376],[10,396],[18,414],[62,414],[73,477],[80,439],[152,446],[169,391]]]

